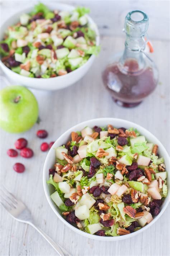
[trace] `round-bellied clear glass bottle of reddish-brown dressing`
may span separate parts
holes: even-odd
[[[129,12],[123,55],[117,55],[105,68],[103,82],[113,100],[122,107],[135,107],[154,91],[158,82],[155,63],[145,53],[148,16],[141,11]]]

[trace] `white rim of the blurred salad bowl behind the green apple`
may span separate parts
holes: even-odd
[[[76,6],[73,6],[73,5],[69,5],[69,4],[63,4],[63,3],[47,3],[46,4],[47,6],[52,6],[52,5],[56,5],[56,8],[57,8],[57,6],[61,6],[61,7],[59,7],[59,8],[69,8],[70,9],[70,11],[71,10],[74,10],[75,8],[76,8]],[[8,23],[8,21],[9,21],[9,19],[12,19],[12,18],[14,18],[15,16],[17,16],[18,15],[18,18],[19,18],[19,14],[21,14],[21,13],[28,13],[28,11],[29,10],[32,10],[32,8],[33,8],[33,6],[32,7],[28,7],[28,8],[24,8],[24,9],[22,9],[22,10],[20,10],[19,12],[15,12],[13,15],[11,15],[9,18],[7,18],[4,22],[3,22],[3,24],[1,24],[1,29],[5,26],[5,24],[6,23]],[[97,24],[94,22],[94,20],[88,15],[88,14],[86,14],[86,17],[88,18],[88,21],[90,21],[90,23],[91,24],[94,24],[95,25],[95,28],[94,28],[94,30],[95,30],[95,32],[96,32],[96,46],[99,46],[99,43],[100,43],[100,36],[99,36],[99,30],[98,30],[98,26],[97,26]],[[2,34],[4,34],[4,30],[3,30],[3,32],[2,32]],[[90,58],[88,59],[88,61],[85,63],[85,64],[83,64],[81,67],[79,67],[79,68],[76,68],[75,70],[73,70],[72,72],[70,72],[70,73],[67,73],[66,75],[64,75],[64,77],[66,77],[66,78],[69,78],[70,77],[70,75],[72,75],[72,74],[75,74],[76,73],[76,71],[77,70],[80,70],[80,69],[82,69],[84,66],[87,66],[88,65],[88,63],[90,62],[90,61],[92,61],[93,59],[95,58],[95,55],[94,54],[92,54],[91,56],[90,56]],[[14,71],[12,71],[10,68],[8,68],[8,67],[6,67],[5,66],[5,64],[2,62],[2,60],[1,60],[1,58],[0,58],[0,65],[6,70],[6,71],[8,71],[11,75],[13,75],[13,73],[15,73],[15,76],[16,77],[21,77],[22,75],[20,75],[20,74],[18,74],[18,73],[16,73],[16,72],[14,72]],[[24,77],[24,78],[27,78],[27,79],[29,79],[29,81],[36,81],[35,79],[37,79],[36,77],[25,77],[25,76],[22,76],[22,77]],[[58,78],[58,80],[59,80],[59,77],[60,77],[60,79],[61,79],[61,77],[63,77],[63,76],[57,76],[57,77],[49,77],[49,78],[43,78],[43,77],[41,77],[41,78],[38,78],[40,81],[41,80],[44,80],[44,79],[52,79],[53,78],[53,80],[54,79],[57,79]]]

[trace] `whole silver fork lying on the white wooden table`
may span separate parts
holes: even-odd
[[[19,201],[10,193],[4,186],[0,189],[0,202],[9,214],[15,219],[23,223],[27,223],[35,228],[51,246],[56,250],[60,256],[71,256],[64,248],[56,244],[46,233],[44,233],[38,226],[33,222],[31,214],[23,202]]]

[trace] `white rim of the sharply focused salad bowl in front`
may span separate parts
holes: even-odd
[[[105,121],[106,125],[107,123],[111,123],[111,122],[122,122],[123,125],[125,126],[126,124],[129,125],[129,127],[135,127],[137,130],[142,130],[142,133],[144,136],[147,136],[147,137],[152,137],[154,138],[154,140],[157,141],[157,144],[159,146],[161,146],[161,150],[164,151],[164,156],[166,155],[166,158],[168,159],[169,158],[169,154],[167,153],[166,149],[164,148],[164,146],[162,145],[162,143],[156,138],[155,135],[153,135],[150,131],[148,131],[147,129],[145,129],[144,127],[142,127],[141,125],[138,125],[134,122],[131,122],[131,121],[128,121],[128,120],[124,120],[124,119],[120,119],[120,118],[94,118],[94,119],[90,119],[90,120],[86,120],[86,121],[83,121],[81,123],[78,123],[77,125],[74,125],[73,127],[71,127],[70,129],[68,129],[67,131],[65,131],[65,133],[63,133],[62,135],[60,135],[60,137],[55,141],[54,144],[57,144],[58,140],[62,140],[65,136],[67,136],[68,134],[71,134],[71,131],[75,131],[77,129],[77,126],[86,126],[88,122],[91,122],[93,123],[93,125],[95,125],[95,122],[100,122],[100,121]],[[62,143],[60,143],[61,145]],[[60,146],[60,145],[57,145]],[[159,215],[155,216],[154,219],[149,223],[147,224],[146,226],[144,226],[143,228],[141,228],[140,230],[137,230],[136,232],[133,232],[133,233],[130,233],[128,235],[122,235],[122,236],[117,236],[117,237],[100,237],[100,236],[97,236],[97,235],[94,235],[94,234],[89,234],[89,233],[86,233],[84,231],[81,231],[80,229],[77,229],[75,228],[73,225],[71,225],[70,223],[68,223],[55,209],[55,207],[53,206],[52,204],[52,201],[50,199],[50,195],[49,195],[49,192],[48,192],[48,185],[46,183],[46,171],[47,171],[47,165],[48,165],[48,158],[52,152],[53,148],[51,148],[46,156],[46,160],[44,162],[44,168],[43,168],[43,188],[44,188],[44,193],[46,195],[46,198],[47,198],[47,201],[49,203],[49,205],[51,206],[52,210],[55,212],[55,214],[57,215],[57,217],[69,228],[71,228],[73,231],[75,231],[76,233],[80,234],[80,235],[83,235],[85,236],[86,238],[91,238],[91,239],[95,239],[95,240],[100,240],[100,241],[118,241],[118,240],[123,240],[123,239],[128,239],[128,238],[131,238],[137,234],[140,234],[142,233],[144,230],[146,230],[147,228],[149,228],[151,225],[153,225],[159,218],[160,216],[164,213],[166,207],[168,206],[169,204],[169,189],[168,189],[168,194],[167,194],[167,197],[166,197],[166,202],[163,203],[162,205],[162,208],[161,208],[161,211],[159,213]],[[169,164],[167,164],[168,166]],[[167,167],[168,169],[168,167]],[[169,179],[169,177],[168,177]]]

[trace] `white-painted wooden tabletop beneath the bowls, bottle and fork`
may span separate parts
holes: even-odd
[[[16,8],[15,8],[16,9]],[[4,16],[5,18],[5,16]],[[75,85],[56,92],[32,90],[39,103],[41,123],[24,134],[7,134],[1,131],[0,181],[28,206],[34,220],[51,238],[76,256],[166,256],[169,255],[170,207],[155,225],[144,233],[119,242],[100,242],[75,234],[61,223],[46,200],[42,171],[47,153],[40,151],[42,141],[56,140],[71,126],[91,118],[124,118],[142,125],[151,131],[165,146],[169,147],[169,41],[152,40],[154,58],[160,72],[160,83],[154,93],[136,108],[126,109],[116,105],[101,81],[101,71],[107,64],[110,53],[123,49],[124,38],[101,37],[102,50],[90,71]],[[1,84],[3,87],[4,85]],[[36,138],[38,129],[46,129],[48,138]],[[14,147],[19,137],[28,139],[34,151],[32,159],[9,158],[8,148]],[[26,170],[17,174],[12,166],[24,163]],[[0,207],[0,255],[38,256],[56,255],[49,244],[32,227],[13,220]]]

